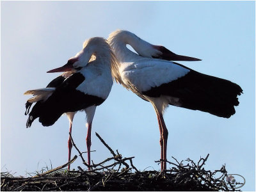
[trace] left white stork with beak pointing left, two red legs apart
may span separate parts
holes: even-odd
[[[36,102],[29,113],[26,126],[30,127],[36,118],[39,118],[39,122],[43,126],[50,126],[63,113],[67,113],[71,133],[72,120],[76,111],[84,110],[87,119],[86,127],[88,128],[86,146],[90,170],[93,116],[96,107],[107,99],[111,91],[112,74],[115,74],[116,68],[115,55],[104,38],[95,37],[85,41],[83,50],[68,60],[66,65],[49,71],[65,72],[64,74],[52,80],[47,88],[29,90],[24,93],[35,96],[28,100],[25,115],[29,113],[31,104]],[[68,143],[68,160],[70,160],[72,148],[70,138]]]

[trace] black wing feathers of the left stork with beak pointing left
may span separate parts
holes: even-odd
[[[30,127],[33,120],[38,117],[42,125],[50,126],[63,113],[79,111],[89,106],[102,104],[104,99],[76,90],[77,86],[83,83],[84,80],[83,74],[77,72],[63,81],[45,102],[36,102],[31,113],[29,113],[27,127]]]

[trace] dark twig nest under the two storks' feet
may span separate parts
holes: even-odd
[[[77,159],[75,156],[67,164],[34,177],[13,177],[4,172],[1,173],[1,191],[236,191],[234,185],[225,182],[225,165],[213,172],[204,169],[209,154],[197,163],[189,158],[179,162],[172,157],[173,162],[167,161],[173,166],[170,170],[140,172],[132,164],[134,157],[122,157],[99,134],[97,136],[113,157],[92,163],[91,170],[84,171],[80,166],[77,171],[63,169]],[[73,140],[72,143],[76,147]],[[84,159],[83,163],[88,166]]]

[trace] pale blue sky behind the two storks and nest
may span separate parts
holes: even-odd
[[[164,113],[169,131],[168,160],[195,161],[210,154],[205,169],[243,175],[244,191],[255,190],[255,2],[253,1],[1,1],[1,171],[15,176],[67,162],[68,120],[51,127],[38,119],[26,129],[27,90],[44,88],[59,74],[48,70],[67,63],[93,36],[108,38],[126,29],[151,44],[202,61],[185,62],[198,72],[237,83],[236,114],[220,118],[170,106]],[[86,150],[84,112],[74,118],[72,136]],[[159,128],[151,104],[114,84],[96,109],[92,160],[111,157],[100,136],[140,170],[159,170]],[[72,150],[72,157],[77,154]],[[86,156],[85,156],[86,157]],[[51,161],[50,161],[51,160]],[[83,166],[77,159],[71,168]],[[170,167],[168,165],[168,167]]]

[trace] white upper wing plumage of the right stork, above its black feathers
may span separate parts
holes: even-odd
[[[122,63],[119,72],[122,81],[125,84],[130,81],[140,90],[141,94],[152,87],[183,77],[189,72],[188,69],[179,65],[170,65],[170,61],[150,58],[136,59],[133,62]]]

